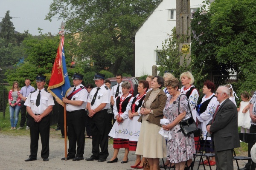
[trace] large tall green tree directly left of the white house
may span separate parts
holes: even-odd
[[[83,55],[97,70],[116,74],[123,59],[133,57],[132,34],[160,0],[55,0],[46,19],[66,20],[66,29],[80,33]]]

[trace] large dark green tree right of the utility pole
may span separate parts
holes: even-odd
[[[209,11],[203,6],[192,13],[195,65],[205,64],[204,72],[213,75],[236,72],[239,91],[255,89],[255,6],[255,0],[215,0]]]

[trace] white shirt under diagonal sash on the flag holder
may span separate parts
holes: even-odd
[[[82,84],[76,86],[76,90],[80,88],[80,86],[83,86]],[[84,86],[83,86],[84,87]],[[75,87],[72,87],[71,90],[68,92],[67,96],[69,96]],[[76,93],[74,96],[72,96],[71,100],[79,100],[79,101],[83,101],[83,104],[81,106],[75,106],[75,105],[71,105],[71,104],[66,104],[66,110],[71,112],[71,111],[77,111],[77,110],[81,110],[81,109],[85,109],[86,105],[87,105],[87,96],[88,96],[88,91],[84,88],[81,91],[79,91],[78,93]]]

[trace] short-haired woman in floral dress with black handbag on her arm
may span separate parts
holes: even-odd
[[[180,129],[179,122],[191,116],[189,103],[179,89],[179,80],[174,78],[166,82],[170,96],[163,110],[163,118],[169,119],[170,124],[162,125],[164,130],[171,130],[172,139],[167,142],[167,159],[175,163],[176,170],[184,170],[186,161],[193,158],[195,153],[194,135],[185,136]],[[178,102],[180,99],[180,109]],[[180,114],[179,114],[180,113]]]

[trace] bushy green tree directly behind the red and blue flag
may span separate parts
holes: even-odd
[[[5,76],[9,83],[18,81],[20,85],[23,85],[24,80],[29,78],[35,80],[36,75],[44,74],[47,76],[47,81],[50,78],[52,72],[52,66],[55,61],[57,49],[59,45],[59,37],[44,34],[37,37],[28,37],[17,48],[22,48],[27,55],[24,63],[15,66],[12,69],[6,71]],[[68,43],[64,44],[65,57],[67,64],[67,71],[69,77],[72,77],[75,72],[82,73],[83,70],[79,67],[70,68],[71,55],[69,53],[70,46]],[[48,83],[48,82],[47,82]]]

